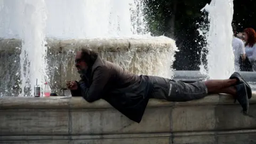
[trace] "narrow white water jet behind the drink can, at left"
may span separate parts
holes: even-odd
[[[20,29],[22,30],[20,31],[22,38],[20,68],[23,89],[21,95],[26,96],[33,95],[36,79],[41,85],[47,79],[45,60],[47,49],[44,34],[47,17],[44,0],[26,0],[22,4],[24,11],[21,15],[22,29]]]

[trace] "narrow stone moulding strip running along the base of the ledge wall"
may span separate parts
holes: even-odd
[[[200,131],[200,132],[173,132],[173,133],[129,133],[129,134],[101,134],[101,135],[0,135],[1,140],[90,140],[90,139],[131,139],[131,138],[165,138],[172,137],[196,137],[196,136],[221,136],[221,135],[239,135],[256,134],[256,129],[251,130],[231,130],[231,131]]]

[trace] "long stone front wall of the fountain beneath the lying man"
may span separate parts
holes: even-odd
[[[249,114],[226,94],[151,99],[140,124],[106,101],[82,97],[0,98],[0,143],[255,143],[256,93]]]

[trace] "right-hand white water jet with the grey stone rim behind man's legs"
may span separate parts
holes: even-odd
[[[219,9],[224,6],[226,9]],[[206,4],[201,12],[208,13],[210,23],[199,26],[199,35],[205,37],[207,42],[204,50],[207,50],[207,68],[202,61],[204,51],[201,55],[200,71],[174,71],[175,79],[186,81],[197,81],[205,79],[226,79],[234,72],[234,54],[231,46],[233,30],[233,0],[218,1],[212,0]],[[209,28],[209,29],[208,29]],[[249,82],[253,91],[256,91],[256,74],[254,72],[240,71],[245,81]]]

